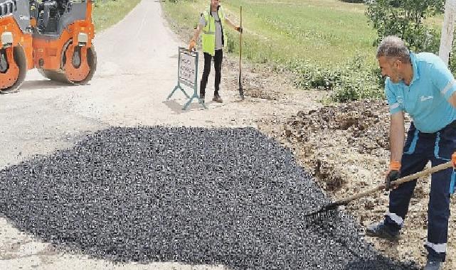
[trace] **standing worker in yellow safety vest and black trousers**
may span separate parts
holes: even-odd
[[[198,36],[203,31],[203,53],[204,53],[204,71],[203,77],[201,78],[199,95],[201,102],[204,102],[204,95],[206,93],[206,85],[208,82],[208,76],[211,72],[211,60],[214,60],[214,68],[216,69],[216,80],[214,82],[214,102],[223,102],[220,97],[220,82],[221,82],[221,70],[222,70],[222,60],[223,60],[223,47],[226,46],[226,33],[224,32],[224,27],[228,25],[242,33],[243,28],[240,26],[235,26],[223,13],[223,9],[220,5],[220,0],[211,0],[211,6],[208,10],[201,13],[198,26],[196,31],[191,38],[189,50],[192,50],[196,46],[196,41]]]

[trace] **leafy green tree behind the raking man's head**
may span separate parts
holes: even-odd
[[[378,45],[384,36],[398,36],[411,50],[438,53],[440,29],[426,26],[429,16],[442,13],[445,0],[371,0],[366,15],[376,28]]]

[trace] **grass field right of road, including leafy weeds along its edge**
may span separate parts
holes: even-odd
[[[162,2],[171,26],[190,40],[208,0]],[[243,7],[243,58],[292,72],[304,90],[329,90],[332,100],[346,102],[384,97],[373,43],[376,31],[364,4],[339,0],[221,1],[228,18],[239,23]],[[438,25],[439,17],[430,19]],[[228,30],[228,53],[238,55],[239,38]]]

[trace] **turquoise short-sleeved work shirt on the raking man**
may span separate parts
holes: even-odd
[[[390,113],[407,112],[421,132],[439,131],[456,119],[456,109],[448,102],[456,92],[455,78],[433,53],[410,53],[410,60],[413,66],[410,85],[386,78]]]

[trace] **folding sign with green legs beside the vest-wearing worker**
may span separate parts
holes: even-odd
[[[169,94],[167,99],[170,99],[171,96],[176,92],[176,90],[181,90],[184,92],[184,95],[190,99],[185,105],[183,110],[189,107],[193,99],[197,99],[198,103],[203,106],[204,109],[207,109],[204,102],[201,102],[198,96],[198,84],[196,83],[196,78],[198,77],[198,53],[195,51],[189,51],[187,48],[179,47],[179,71],[177,72],[177,85],[174,87],[173,92]],[[193,88],[193,95],[190,97],[182,88],[182,85]]]

